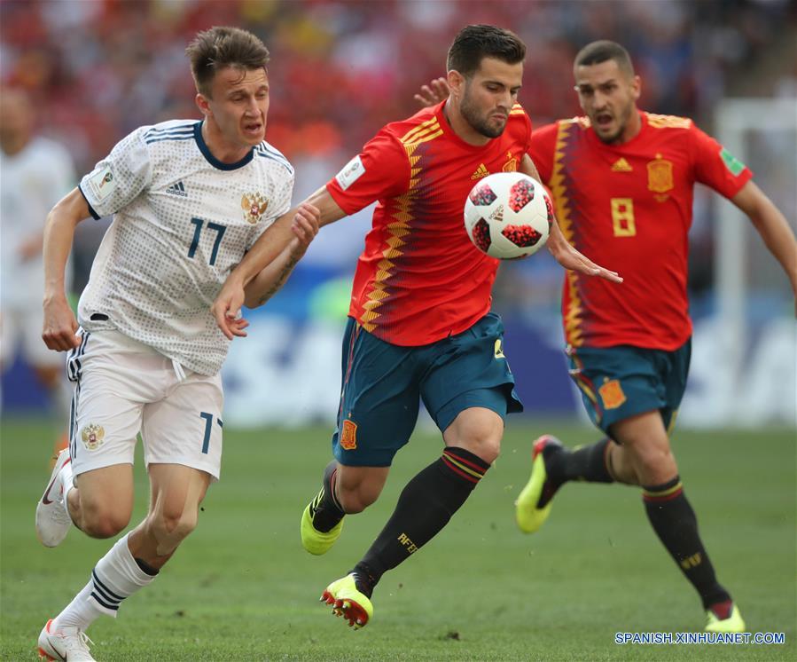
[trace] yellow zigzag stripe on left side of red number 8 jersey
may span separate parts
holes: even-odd
[[[565,239],[573,243],[574,229],[571,217],[570,199],[568,197],[568,182],[565,169],[565,156],[567,140],[574,126],[580,122],[581,118],[574,118],[564,122],[559,122],[559,130],[556,135],[556,146],[553,155],[553,169],[551,174],[551,193],[556,206],[556,217],[559,221],[559,229],[565,235]],[[567,294],[569,296],[569,306],[565,313],[565,340],[566,343],[578,347],[583,343],[582,338],[582,300],[578,292],[578,276],[576,272],[568,271],[566,275]]]

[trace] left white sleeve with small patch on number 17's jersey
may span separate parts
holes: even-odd
[[[108,216],[129,205],[152,181],[152,164],[144,140],[147,128],[122,138],[111,154],[82,178],[81,193],[93,217]]]

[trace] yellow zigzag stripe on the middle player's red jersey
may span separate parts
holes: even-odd
[[[379,325],[379,318],[382,312],[379,308],[390,296],[389,280],[395,273],[395,258],[403,255],[403,247],[406,245],[406,237],[411,232],[410,224],[415,218],[414,203],[418,197],[418,184],[421,181],[421,171],[423,165],[421,157],[425,151],[423,148],[418,150],[418,146],[428,143],[434,138],[442,135],[440,123],[437,117],[433,117],[426,122],[418,124],[404,134],[400,142],[407,153],[410,162],[410,184],[407,192],[395,198],[395,209],[390,215],[394,220],[387,224],[386,230],[388,238],[386,246],[382,248],[382,259],[377,264],[378,271],[376,278],[371,284],[371,291],[366,296],[367,301],[363,304],[363,314],[360,316],[360,324],[363,328],[371,332]]]

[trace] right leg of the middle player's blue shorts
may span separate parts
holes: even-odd
[[[523,411],[504,355],[504,325],[497,315],[489,313],[464,333],[427,345],[423,352],[421,396],[441,432],[473,407],[497,414],[502,429],[506,414]],[[493,417],[487,420],[495,424]]]

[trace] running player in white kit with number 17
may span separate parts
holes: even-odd
[[[36,532],[47,547],[73,523],[93,538],[121,532],[133,508],[139,432],[152,497],[145,520],[47,621],[38,641],[43,658],[93,659],[86,629],[102,614],[115,617],[197,525],[221,469],[219,369],[229,347],[210,303],[290,206],[293,168],[263,140],[269,51],[248,32],[212,28],[186,52],[204,119],[133,131],[52,209],[44,232],[43,339],[51,350],[69,351],[74,399],[70,447],[36,508]],[[64,294],[66,256],[75,225],[109,214],[78,327]],[[317,209],[303,205],[288,217],[295,218],[293,241],[250,282],[248,305],[276,291],[317,232]]]

